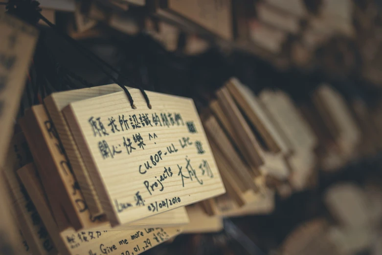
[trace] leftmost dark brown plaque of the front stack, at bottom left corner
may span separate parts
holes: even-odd
[[[15,216],[20,222],[22,234],[33,254],[57,254],[52,239],[46,234],[46,228],[33,201],[25,193],[25,189],[17,177],[16,170],[20,157],[18,158],[15,148],[18,146],[18,141],[13,138],[9,146],[6,166],[3,168],[3,174],[11,193],[11,201],[15,208]],[[26,158],[22,160],[22,163],[26,162]],[[15,223],[13,222],[13,224]]]

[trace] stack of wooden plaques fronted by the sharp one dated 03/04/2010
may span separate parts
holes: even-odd
[[[34,254],[139,254],[225,193],[191,99],[129,89],[132,109],[120,91],[53,93],[19,120],[4,174]]]

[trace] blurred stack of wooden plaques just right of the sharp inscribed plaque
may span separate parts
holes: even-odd
[[[227,193],[203,202],[210,214],[267,214],[274,190],[288,196],[309,185],[317,140],[285,93],[255,96],[232,78],[216,98],[202,122]]]

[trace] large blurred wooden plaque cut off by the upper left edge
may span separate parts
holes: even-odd
[[[8,14],[0,14],[0,165],[12,137],[14,118],[19,109],[29,62],[38,32]]]

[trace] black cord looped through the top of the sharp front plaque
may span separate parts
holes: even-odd
[[[49,20],[47,20],[41,13],[38,13],[39,15],[39,18],[41,20],[43,20],[46,24],[48,24],[51,28],[54,28],[54,30],[62,37],[64,37],[65,39],[67,39],[74,47],[76,47],[82,54],[84,54],[85,57],[87,57],[90,61],[94,61],[94,63],[110,78],[112,79],[117,85],[119,85],[123,91],[126,93],[129,101],[130,101],[130,105],[132,106],[133,109],[135,109],[135,106],[134,106],[134,100],[130,94],[130,92],[127,90],[127,88],[120,84],[119,80],[117,80],[116,78],[114,78],[109,72],[107,72],[102,65],[108,67],[109,69],[111,69],[114,73],[120,75],[120,73],[118,72],[118,70],[116,70],[114,67],[112,67],[110,64],[108,64],[107,62],[105,62],[103,59],[99,58],[97,55],[95,55],[94,53],[92,53],[90,50],[88,50],[86,47],[82,46],[80,43],[78,43],[76,40],[72,39],[71,37],[69,37],[68,35],[64,34],[64,33],[61,33],[58,29],[56,29],[56,26],[51,23]],[[98,62],[97,62],[98,61]],[[130,82],[132,83],[132,82]],[[147,106],[151,109],[151,104],[150,104],[150,100],[146,94],[146,92],[143,90],[143,88],[139,85],[136,85],[136,84],[133,84],[133,86],[135,85],[135,87],[138,87],[138,89],[140,90],[140,92],[142,93],[143,97],[145,98],[145,101],[147,103]],[[132,86],[132,87],[133,87]]]

